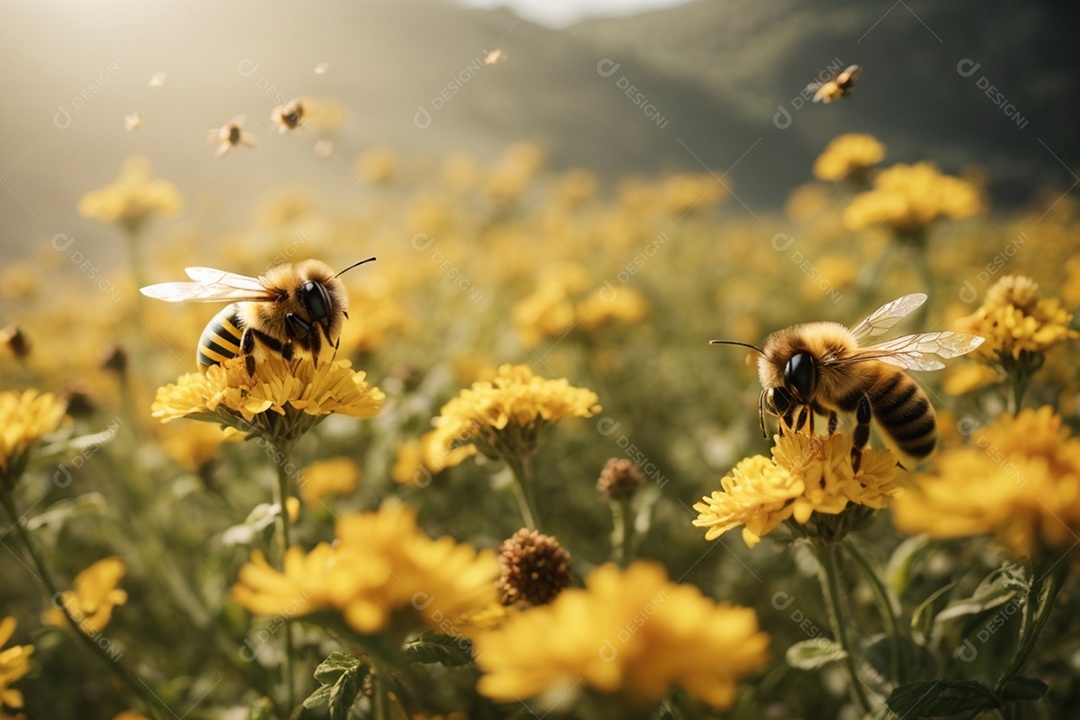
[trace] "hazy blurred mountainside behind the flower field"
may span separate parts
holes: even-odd
[[[370,203],[351,166],[374,146],[491,159],[523,139],[545,145],[557,168],[608,180],[707,167],[757,212],[810,178],[829,138],[867,132],[890,162],[977,166],[998,203],[1024,203],[1069,188],[1080,167],[1078,14],[1002,1],[702,0],[553,30],[437,0],[15,3],[0,26],[0,244],[30,254],[58,232],[116,244],[75,206],[130,154],[180,187],[184,222],[218,232],[245,227],[283,186],[325,208]],[[505,62],[485,65],[495,49]],[[864,68],[852,97],[805,103],[810,80],[850,63]],[[150,87],[160,70],[165,83]],[[990,84],[1000,98],[987,97]],[[340,106],[333,157],[316,157],[310,128],[270,124],[294,96]],[[143,127],[125,132],[133,110]],[[258,147],[215,158],[207,131],[240,114]]]

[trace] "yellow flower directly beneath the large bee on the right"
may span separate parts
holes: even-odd
[[[864,448],[854,473],[850,435],[787,433],[775,439],[771,460],[754,456],[741,461],[720,480],[723,490],[693,506],[693,525],[708,528],[705,540],[743,526],[743,541],[753,547],[784,520],[806,526],[811,518],[811,528],[796,529],[828,540],[843,528],[823,516],[838,516],[850,505],[878,510],[895,492],[896,458],[889,450]]]

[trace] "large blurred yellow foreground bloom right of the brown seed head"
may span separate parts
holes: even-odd
[[[716,708],[767,661],[769,636],[750,608],[718,604],[662,566],[605,565],[585,588],[511,616],[474,640],[486,675],[476,689],[514,702],[579,683],[635,702],[659,702],[674,688]]]

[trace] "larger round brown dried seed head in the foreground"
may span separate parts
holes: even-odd
[[[546,604],[570,585],[570,554],[551,535],[522,529],[499,547],[499,594],[505,606]]]

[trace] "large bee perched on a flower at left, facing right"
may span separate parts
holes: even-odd
[[[195,359],[205,370],[229,358],[243,356],[247,373],[255,373],[256,340],[285,359],[294,345],[307,351],[318,365],[326,343],[337,350],[341,324],[349,316],[349,299],[339,277],[367,258],[335,274],[319,260],[275,266],[260,277],[247,277],[213,268],[187,268],[193,283],[160,283],[143,295],[170,302],[233,300],[214,316],[199,338]]]

